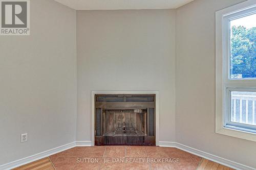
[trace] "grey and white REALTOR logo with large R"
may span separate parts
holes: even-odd
[[[29,0],[0,0],[0,35],[29,35]]]

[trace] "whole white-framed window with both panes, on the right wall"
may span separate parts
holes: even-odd
[[[256,141],[256,5],[216,12],[216,132]]]

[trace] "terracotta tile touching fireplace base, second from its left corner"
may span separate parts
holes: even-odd
[[[124,146],[107,146],[103,157],[123,158]]]

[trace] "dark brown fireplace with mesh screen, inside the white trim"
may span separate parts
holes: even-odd
[[[95,145],[156,145],[155,94],[96,94]]]

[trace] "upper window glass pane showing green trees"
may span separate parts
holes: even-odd
[[[230,79],[256,78],[256,14],[230,21]]]

